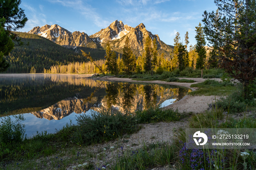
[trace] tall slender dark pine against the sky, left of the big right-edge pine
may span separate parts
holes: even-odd
[[[204,68],[204,59],[206,58],[206,49],[204,46],[206,45],[206,40],[204,39],[204,30],[199,23],[198,27],[196,27],[196,53],[198,57],[196,59],[196,68],[201,69],[201,78],[203,78],[203,68]]]

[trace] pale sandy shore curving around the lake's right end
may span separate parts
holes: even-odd
[[[182,78],[180,78],[182,79]],[[157,83],[157,84],[169,84],[169,85],[178,85],[190,88],[192,90],[196,90],[196,88],[191,88],[192,84],[196,84],[199,82],[203,82],[206,79],[203,78],[185,78],[188,80],[194,80],[193,83],[181,83],[181,82],[165,82],[160,80],[154,81],[137,81],[132,80],[131,78],[118,78],[118,77],[103,77],[99,80],[106,80],[106,81],[125,81],[125,82],[147,82],[147,83]],[[221,81],[220,78],[213,78],[214,80]],[[219,96],[216,96],[216,99],[219,99]],[[178,109],[179,112],[193,112],[193,113],[200,113],[206,111],[208,108],[208,104],[215,102],[215,96],[191,96],[187,95],[182,100],[177,101],[174,104],[168,105],[165,108],[173,108],[174,110]]]

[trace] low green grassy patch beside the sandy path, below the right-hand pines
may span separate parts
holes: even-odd
[[[190,92],[191,95],[205,95],[205,96],[226,96],[237,91],[236,86],[229,82],[218,82],[216,80],[207,79],[204,82],[192,84],[190,87],[197,87],[199,89]]]

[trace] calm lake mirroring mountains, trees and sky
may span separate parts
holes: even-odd
[[[76,116],[103,108],[123,111],[167,106],[181,100],[189,88],[163,84],[110,82],[91,75],[0,74],[0,113],[23,114],[26,135],[54,133]],[[11,116],[12,119],[13,116]]]

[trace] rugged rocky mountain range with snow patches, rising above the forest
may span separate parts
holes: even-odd
[[[150,31],[147,31],[143,23],[133,28],[131,26],[124,25],[122,21],[118,20],[111,23],[107,28],[101,29],[90,36],[79,31],[72,33],[57,24],[52,26],[45,25],[42,27],[34,27],[28,33],[43,36],[61,46],[73,49],[80,47],[76,49],[77,51],[80,51],[83,47],[104,49],[106,42],[110,42],[112,50],[123,53],[122,48],[124,46],[126,36],[128,36],[130,46],[137,56],[143,53],[144,43],[147,36],[150,36],[152,40],[154,38],[157,39],[159,53],[164,53],[166,57],[170,56],[173,49],[173,46],[166,45],[162,42],[158,35],[153,35]]]

